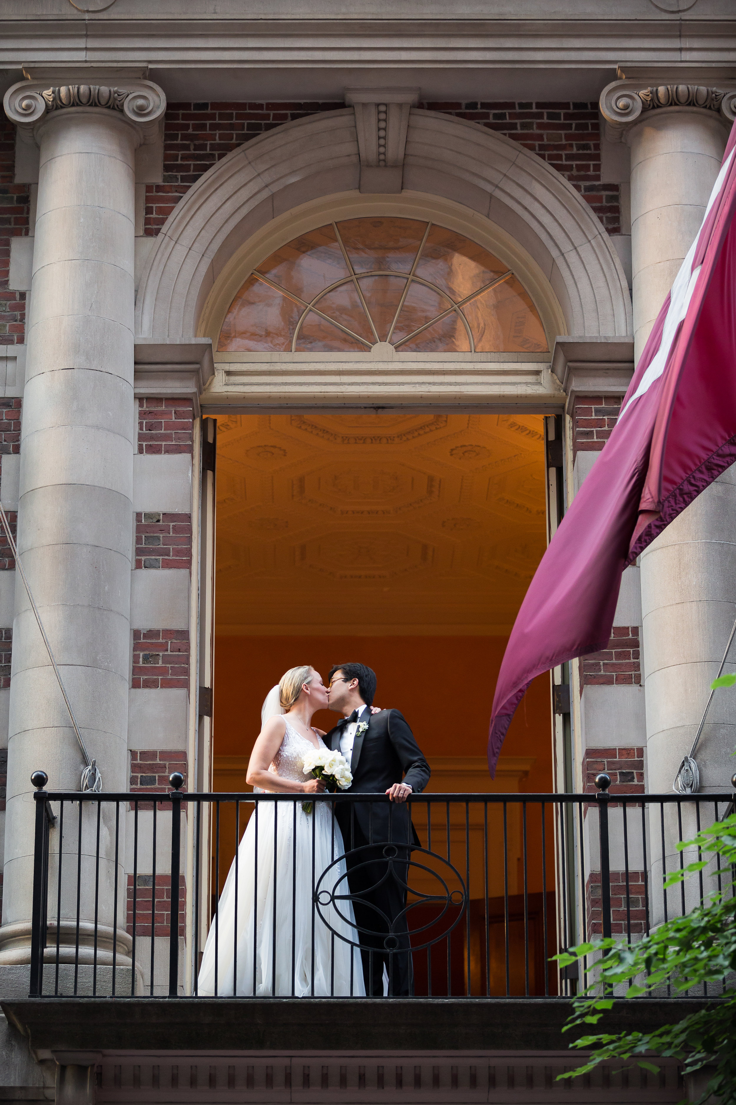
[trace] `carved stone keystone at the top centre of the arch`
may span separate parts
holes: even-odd
[[[355,112],[362,192],[401,192],[409,109],[419,88],[346,88]]]

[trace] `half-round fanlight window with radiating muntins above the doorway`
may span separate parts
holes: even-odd
[[[233,299],[217,349],[543,352],[540,316],[508,266],[454,230],[349,219],[295,238]]]

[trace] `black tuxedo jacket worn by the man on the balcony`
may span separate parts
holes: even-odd
[[[415,794],[420,793],[429,781],[429,765],[414,739],[404,715],[398,709],[382,709],[380,714],[365,711],[361,722],[367,722],[369,727],[356,735],[353,743],[353,755],[350,770],[353,775],[352,785],[345,793],[380,793],[383,794],[393,783],[406,782]],[[341,729],[335,726],[330,729],[324,743],[332,751],[340,751]],[[335,803],[335,815],[342,831],[345,851],[351,846],[351,812],[352,803]],[[369,840],[369,831],[373,841],[409,840],[409,812],[405,802],[387,802],[371,806],[356,802],[354,818],[361,835]],[[415,844],[419,839],[410,827]],[[353,834],[354,835],[354,834]]]

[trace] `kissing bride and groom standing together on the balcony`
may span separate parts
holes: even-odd
[[[268,693],[246,777],[255,792],[323,792],[305,759],[330,750],[350,765],[344,793],[390,802],[256,803],[207,935],[200,996],[413,992],[406,881],[419,841],[406,799],[424,790],[429,765],[403,715],[373,706],[375,687],[365,664],[337,664],[329,687],[302,665]],[[343,715],[327,734],[311,726],[324,708]]]

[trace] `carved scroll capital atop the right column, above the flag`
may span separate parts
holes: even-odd
[[[718,116],[730,127],[736,118],[736,86],[711,87],[702,84],[659,84],[646,81],[612,81],[600,94],[600,113],[606,120],[606,137],[621,141],[626,133],[652,112],[702,110]]]

